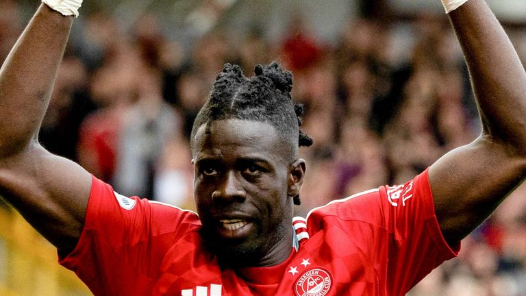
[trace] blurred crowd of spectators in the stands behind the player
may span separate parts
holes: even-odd
[[[0,5],[2,61],[25,25],[19,15],[15,2]],[[127,32],[104,12],[79,23],[40,142],[123,195],[194,208],[188,138],[225,62],[251,75],[255,64],[277,60],[294,73],[292,97],[307,108],[302,130],[314,138],[301,149],[308,169],[298,215],[362,190],[403,184],[480,131],[466,67],[444,16],[355,18],[336,44],[294,18],[280,42],[256,28],[235,40],[216,29],[190,49],[169,40],[151,14]],[[525,33],[512,32],[521,54]],[[519,187],[464,240],[460,258],[409,295],[526,295],[525,193]]]

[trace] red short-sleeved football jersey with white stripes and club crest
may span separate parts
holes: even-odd
[[[273,267],[221,269],[189,212],[92,180],[75,250],[61,258],[95,295],[405,295],[458,251],[434,214],[427,171],[295,218],[297,244]]]

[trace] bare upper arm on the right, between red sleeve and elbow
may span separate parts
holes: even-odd
[[[455,245],[486,219],[525,177],[525,160],[483,136],[454,149],[429,168],[435,212]]]

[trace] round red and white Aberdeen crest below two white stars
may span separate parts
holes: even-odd
[[[303,272],[296,281],[297,296],[324,296],[332,286],[332,275],[323,267],[316,267]]]

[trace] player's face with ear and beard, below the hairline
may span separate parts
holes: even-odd
[[[212,251],[251,265],[280,250],[288,256],[303,160],[290,155],[290,144],[268,123],[214,121],[194,140],[194,196]]]

